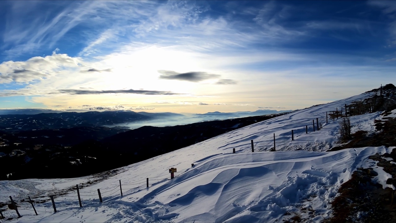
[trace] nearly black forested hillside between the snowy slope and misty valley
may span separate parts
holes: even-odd
[[[86,128],[82,127],[74,128],[73,131],[59,129],[54,131],[55,133],[45,133],[47,137],[55,136],[49,138],[59,138],[58,142],[64,142],[65,139],[74,142],[74,144],[64,142],[68,146],[60,143],[56,144],[54,141],[48,141],[50,142],[48,144],[39,144],[39,142],[49,140],[40,136],[42,139],[40,141],[39,135],[42,134],[40,132],[28,131],[16,135],[5,134],[1,137],[1,143],[3,145],[8,144],[8,146],[0,147],[0,152],[8,155],[0,157],[3,167],[0,180],[70,178],[100,173],[190,146],[228,131],[282,114],[206,121],[172,127],[144,126],[129,131],[125,129],[109,130],[112,132],[107,133],[100,133],[100,131],[95,133],[95,131],[98,131],[95,128],[92,128],[92,132],[89,133]],[[115,131],[120,133],[112,134]],[[58,134],[63,136],[56,137],[59,136]],[[103,138],[105,134],[112,134],[113,136]],[[24,136],[21,138],[19,137],[21,135]],[[38,139],[32,139],[32,137]],[[86,138],[86,140],[82,141],[82,138]],[[14,144],[15,142],[17,144]]]

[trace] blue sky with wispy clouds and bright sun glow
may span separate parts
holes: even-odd
[[[396,84],[396,1],[0,1],[0,21],[0,109],[294,110]]]

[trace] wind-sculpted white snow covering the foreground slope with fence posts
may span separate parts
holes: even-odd
[[[364,93],[237,129],[122,167],[117,170],[118,174],[104,180],[90,176],[0,181],[0,201],[8,200],[10,195],[19,201],[27,196],[45,196],[85,184],[80,189],[83,208],[79,207],[76,191],[71,190],[55,198],[57,213],[53,213],[51,202],[35,204],[37,216],[29,203],[17,202],[23,217],[11,221],[274,222],[298,213],[307,221],[318,222],[331,214],[331,199],[358,167],[376,168],[377,181],[391,187],[385,183],[390,176],[367,158],[371,154],[390,152],[391,148],[321,152],[336,144],[337,121],[329,120],[320,131],[305,134],[305,126],[312,125],[312,119],[322,117],[323,120],[326,112],[373,94]],[[377,112],[351,117],[354,130],[374,131],[371,124],[379,115]],[[296,131],[294,141],[287,138],[292,129],[301,128],[304,131]],[[277,152],[267,152],[274,133],[283,145],[276,146]],[[256,151],[263,152],[251,153],[250,140],[254,141]],[[232,154],[232,148],[236,148],[236,154]],[[296,149],[303,150],[287,151]],[[170,167],[177,168],[176,175],[179,174],[172,180],[167,179]],[[149,188],[146,188],[146,178],[149,178]],[[95,180],[98,183],[88,183]],[[120,196],[119,180],[124,196]],[[98,188],[103,203],[99,202]],[[16,217],[13,210],[3,214]]]

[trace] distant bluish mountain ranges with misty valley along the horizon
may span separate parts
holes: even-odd
[[[4,111],[4,110],[2,110]],[[72,127],[114,127],[127,126],[131,129],[142,126],[173,126],[202,121],[225,120],[240,117],[290,112],[276,110],[257,110],[255,112],[208,112],[204,114],[183,115],[172,112],[133,112],[130,110],[60,112],[30,114],[38,110],[25,110],[28,114],[0,115],[0,130],[6,132],[36,131],[43,129],[66,129]],[[21,111],[19,111],[21,112]],[[48,112],[48,110],[45,110]],[[122,125],[122,126],[120,126]],[[124,127],[126,128],[126,127]]]

